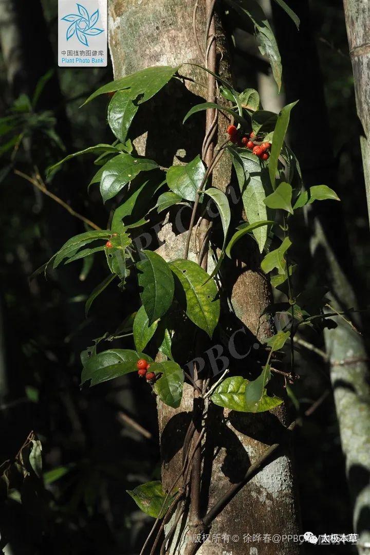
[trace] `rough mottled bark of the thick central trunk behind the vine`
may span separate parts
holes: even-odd
[[[145,7],[140,0],[111,0],[109,3],[109,46],[113,60],[114,77],[135,72],[150,65],[176,66],[184,62],[199,63],[192,17],[194,2],[183,0],[146,0]],[[220,20],[216,19],[217,51],[222,53],[219,73],[230,78],[227,63],[225,37]],[[199,3],[197,29],[205,29],[205,2]],[[219,57],[220,58],[220,57]],[[164,166],[189,162],[201,152],[204,137],[204,120],[196,119],[183,127],[181,121],[191,105],[202,102],[205,89],[199,83],[206,83],[204,72],[198,68],[184,66],[181,74],[191,77],[196,83],[171,82],[155,97],[155,102],[143,105],[148,133],[140,134],[139,121],[136,123],[134,144],[140,154],[158,160]],[[200,122],[200,124],[199,124]],[[219,143],[224,140],[227,120],[219,117]],[[160,130],[159,130],[160,128]],[[143,127],[144,129],[144,127]],[[231,166],[227,157],[217,167],[213,186],[225,190],[230,183]],[[170,222],[164,223],[158,234],[165,243],[159,253],[167,260],[184,256],[186,232],[176,234]],[[191,242],[190,259],[195,260],[195,245]],[[269,304],[271,289],[266,276],[259,271],[259,254],[251,246],[245,263],[239,269],[230,269],[227,289],[237,317],[244,322],[252,336],[258,339],[271,335],[271,324],[260,319],[261,312]],[[246,341],[246,351],[249,348]],[[248,360],[248,359],[246,359]],[[244,364],[241,362],[241,364]],[[246,366],[246,363],[245,363]],[[192,410],[192,387],[185,386],[183,401],[178,410],[158,403],[158,417],[161,435],[161,456],[163,462],[163,483],[168,488],[173,477],[181,468],[181,446]],[[290,423],[284,406],[273,413],[241,415],[222,410],[214,405],[209,407],[207,417],[207,438],[203,447],[202,493],[204,511],[230,486],[238,482],[251,462],[275,442]],[[185,520],[181,523],[176,542],[179,553],[184,553]],[[205,543],[199,549],[202,555],[219,553],[221,547],[234,555],[251,553],[272,555],[276,544],[260,543],[257,547],[243,542],[243,534],[254,533],[297,533],[297,502],[293,479],[290,447],[261,470],[245,488],[239,492],[227,508],[221,512],[211,527],[212,533],[237,534],[239,542],[229,544]],[[280,544],[279,553],[298,553],[297,544]]]

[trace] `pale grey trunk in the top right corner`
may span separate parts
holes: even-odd
[[[357,114],[362,125],[360,143],[370,218],[370,3],[368,0],[343,0],[343,6],[352,60]]]

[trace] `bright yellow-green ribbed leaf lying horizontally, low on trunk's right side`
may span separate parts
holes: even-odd
[[[252,382],[245,380],[242,376],[226,378],[216,387],[211,395],[211,400],[215,405],[239,412],[263,412],[282,403],[282,400],[278,397],[263,395],[258,407],[255,407],[254,404],[250,406],[245,401],[245,390],[250,383]],[[255,410],[256,408],[259,408],[259,410]]]

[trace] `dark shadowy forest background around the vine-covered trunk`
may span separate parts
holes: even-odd
[[[99,261],[91,258],[84,259],[80,267],[61,267],[47,279],[39,275],[29,281],[33,271],[70,236],[82,233],[84,226],[14,174],[16,169],[33,175],[38,168],[44,178],[47,166],[64,153],[113,142],[106,120],[108,98],[99,97],[79,109],[94,89],[113,79],[112,69],[59,69],[57,2],[9,4],[15,8],[12,26],[5,29],[2,18],[0,28],[0,112],[3,118],[9,116],[0,124],[0,462],[12,460],[33,430],[42,443],[43,485],[38,486],[37,495],[25,494],[22,504],[16,491],[8,499],[1,497],[0,546],[10,542],[12,551],[6,553],[16,555],[138,553],[152,519],[139,511],[125,490],[160,477],[155,399],[136,375],[91,389],[81,390],[79,386],[80,352],[92,345],[92,337],[114,332],[137,308],[138,299],[130,290],[122,294],[110,287],[85,318],[84,302],[104,278]],[[319,100],[324,112],[326,103],[329,127],[312,128],[313,148],[303,164],[315,166],[317,157],[325,158],[327,152],[328,163],[336,172],[336,191],[344,216],[335,223],[336,246],[343,248],[341,236],[347,237],[351,245],[347,255],[353,264],[351,279],[364,308],[369,301],[368,216],[342,3],[312,0],[309,11],[306,2],[300,9],[301,51],[294,46],[298,32],[283,12],[274,9],[272,23],[283,72],[292,72],[292,64],[302,64],[300,70],[295,69],[296,79],[306,79],[305,102],[312,102],[313,110],[318,101],[317,80],[323,81],[325,99]],[[238,88],[257,87],[259,75],[269,71],[268,64],[236,22],[229,22],[227,31],[236,38],[232,64]],[[17,40],[21,57],[7,49]],[[305,59],[300,58],[300,52]],[[307,64],[312,71],[306,71]],[[30,105],[28,99],[32,103],[40,78],[50,70],[37,102]],[[299,112],[292,118],[291,134],[300,139]],[[301,140],[305,143],[306,138]],[[104,228],[109,214],[97,192],[87,192],[96,169],[89,157],[79,158],[47,186]],[[302,250],[308,250],[303,221],[295,233]],[[302,256],[303,278],[305,271],[311,271],[309,256],[306,269],[304,260]],[[365,327],[366,318],[365,314]],[[310,341],[322,347],[318,337],[311,336]],[[108,349],[131,348],[133,344],[128,337],[105,345]],[[301,379],[292,394],[298,412],[328,390],[325,402],[296,436],[302,529],[316,534],[352,532],[328,370],[315,353],[308,354],[305,361],[298,359],[298,365]],[[144,431],[133,426],[130,418]],[[331,553],[330,549],[327,547],[326,552]],[[340,552],[337,546],[333,550]]]

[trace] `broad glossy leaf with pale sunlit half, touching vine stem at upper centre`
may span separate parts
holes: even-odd
[[[166,174],[166,181],[176,195],[186,200],[195,200],[205,175],[205,167],[199,154],[185,165],[171,166]]]

